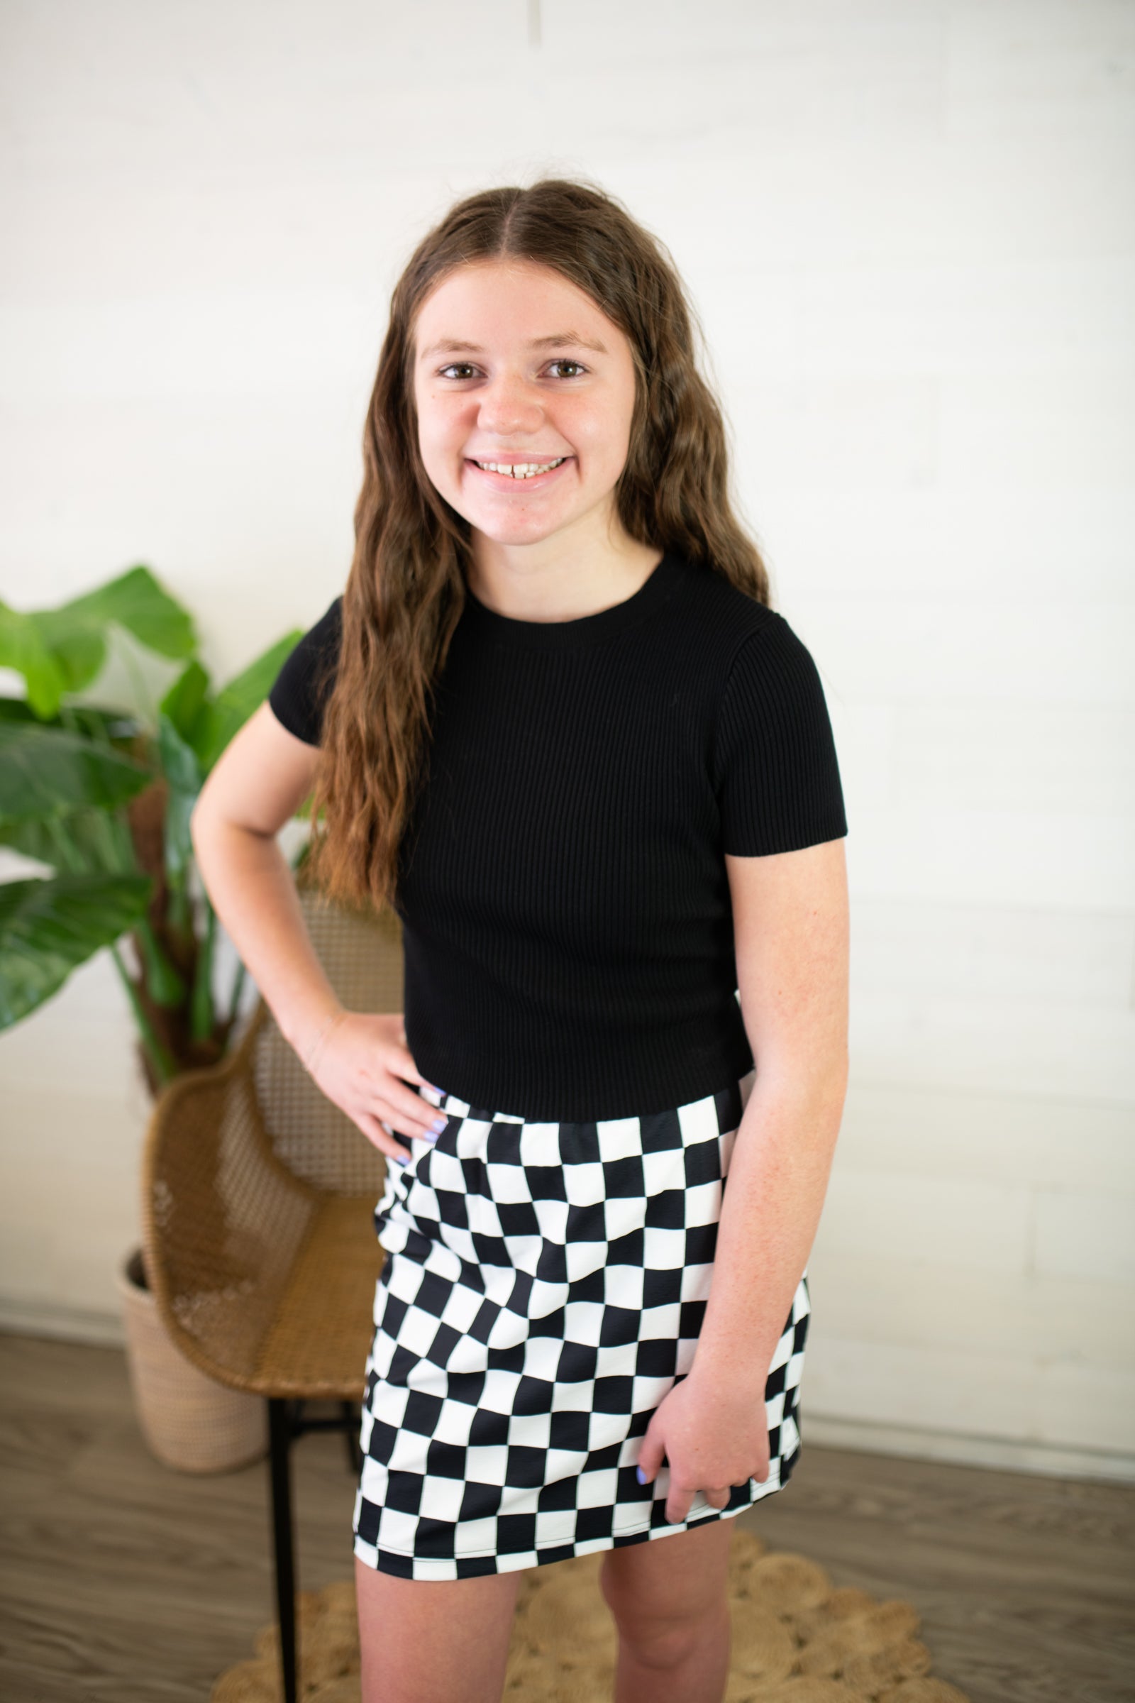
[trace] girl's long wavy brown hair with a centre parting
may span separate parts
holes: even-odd
[[[434,489],[419,453],[415,318],[449,272],[488,259],[551,267],[626,335],[636,395],[614,497],[630,536],[769,603],[764,560],[730,504],[721,410],[698,371],[699,327],[669,250],[587,182],[551,177],[458,201],[417,245],[390,303],[311,794],[305,879],[364,909],[396,904],[398,850],[429,763],[434,685],[471,564],[470,525]]]

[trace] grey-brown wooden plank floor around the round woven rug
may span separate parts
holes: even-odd
[[[1132,1703],[1135,1490],[822,1449],[807,1424],[791,1483],[740,1516],[773,1548],[914,1603],[972,1703]],[[119,1350],[0,1335],[0,1470],[5,1703],[206,1703],[252,1655],[267,1466],[160,1466]],[[351,1579],[342,1436],[298,1441],[294,1495],[301,1587]]]

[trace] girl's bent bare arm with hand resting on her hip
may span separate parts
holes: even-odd
[[[407,1051],[402,1017],[342,1010],[276,841],[311,792],[318,763],[318,748],[262,703],[209,773],[189,831],[213,908],[281,1032],[305,1063],[317,1051],[315,1080],[368,1139],[405,1158],[391,1127],[422,1138],[437,1114],[407,1087],[425,1078]]]

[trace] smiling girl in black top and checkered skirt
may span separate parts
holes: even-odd
[[[347,586],[194,812],[282,1032],[393,1161],[362,1696],[497,1703],[521,1570],[604,1551],[618,1703],[720,1703],[846,1092],[824,691],[674,266],[597,189],[475,194],[419,244],[364,463]],[[405,1025],[313,955],[274,838],[310,792],[323,889],[400,916]]]

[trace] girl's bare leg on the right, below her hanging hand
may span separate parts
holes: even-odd
[[[728,1677],[732,1519],[607,1550],[601,1584],[619,1628],[614,1703],[721,1703]]]

